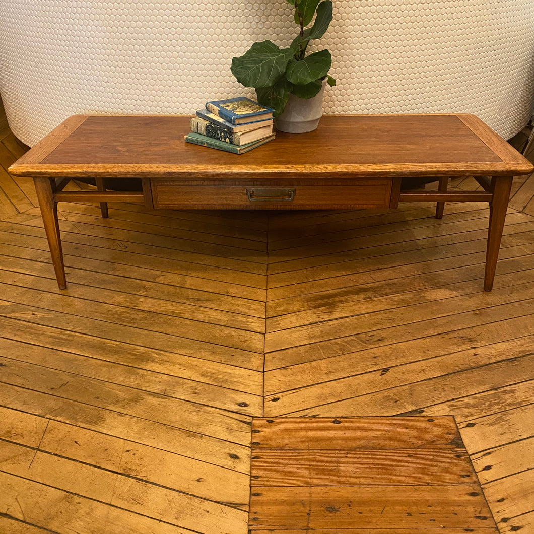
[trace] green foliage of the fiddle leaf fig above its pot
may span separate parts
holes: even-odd
[[[289,48],[280,49],[272,41],[254,43],[238,58],[232,58],[231,71],[238,82],[256,90],[260,104],[272,107],[280,115],[289,95],[312,98],[323,80],[335,85],[328,74],[332,56],[328,50],[306,55],[310,41],[323,37],[332,21],[332,0],[286,0],[295,6],[295,23],[300,32]],[[307,26],[313,20],[313,25]]]

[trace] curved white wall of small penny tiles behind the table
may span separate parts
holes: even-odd
[[[2,0],[0,92],[28,145],[75,113],[193,113],[254,97],[232,57],[295,32],[286,0]],[[533,0],[334,0],[315,48],[325,113],[474,113],[505,138],[531,115]]]

